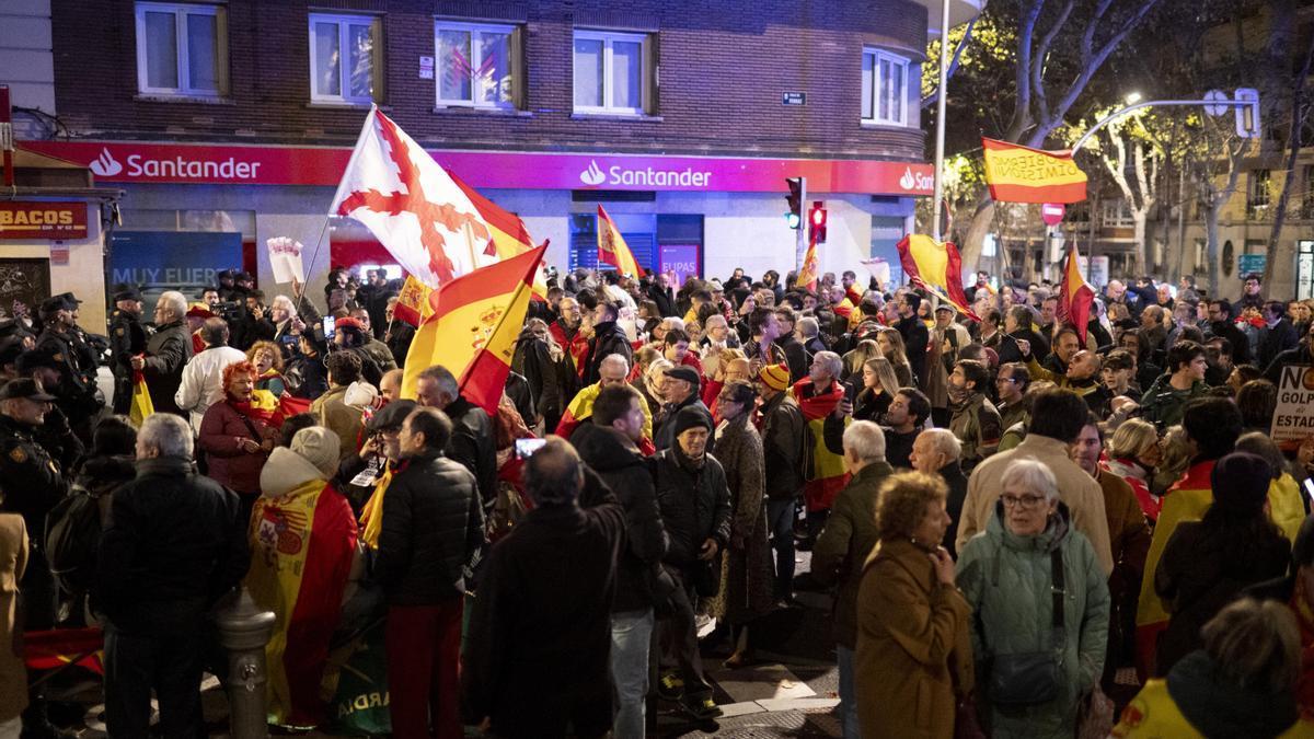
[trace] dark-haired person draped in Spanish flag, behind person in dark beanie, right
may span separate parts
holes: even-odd
[[[1151,676],[1160,675],[1155,669],[1155,644],[1159,634],[1168,626],[1169,613],[1155,592],[1154,573],[1159,559],[1177,527],[1187,521],[1200,521],[1214,504],[1214,467],[1236,448],[1244,421],[1230,398],[1202,397],[1187,402],[1181,412],[1181,426],[1194,448],[1194,458],[1185,475],[1164,493],[1137,602],[1137,668]],[[1264,477],[1265,485],[1271,477],[1272,475]]]

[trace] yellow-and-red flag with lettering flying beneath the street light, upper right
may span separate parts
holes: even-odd
[[[982,138],[986,184],[996,203],[1081,203],[1085,172],[1071,151],[1042,151]]]

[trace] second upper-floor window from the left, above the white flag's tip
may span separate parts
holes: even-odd
[[[372,103],[382,88],[381,24],[369,16],[310,14],[310,100]]]

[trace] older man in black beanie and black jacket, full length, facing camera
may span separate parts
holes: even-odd
[[[731,493],[725,472],[707,454],[712,421],[698,408],[683,408],[671,421],[674,443],[653,458],[657,506],[670,546],[662,560],[675,579],[674,613],[661,623],[661,679],[657,692],[679,700],[698,718],[715,718],[720,709],[703,679],[698,654],[694,604],[716,594],[720,552],[731,536]]]

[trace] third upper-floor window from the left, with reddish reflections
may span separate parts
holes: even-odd
[[[515,26],[438,21],[438,104],[515,108],[516,36]]]

